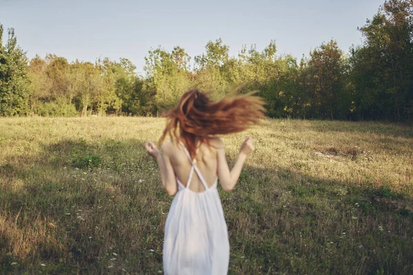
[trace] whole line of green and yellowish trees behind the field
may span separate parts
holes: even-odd
[[[221,39],[209,41],[192,60],[182,47],[158,47],[138,76],[127,58],[29,61],[13,29],[3,43],[0,25],[0,115],[159,115],[196,87],[216,98],[257,90],[270,117],[411,120],[413,1],[385,1],[359,31],[363,43],[348,54],[331,40],[300,60],[277,55],[275,41],[237,56]]]

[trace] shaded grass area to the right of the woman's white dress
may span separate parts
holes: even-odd
[[[247,167],[223,194],[231,272],[411,274],[413,201],[388,186],[346,186]],[[246,261],[248,260],[248,262]],[[251,262],[257,268],[251,270]]]

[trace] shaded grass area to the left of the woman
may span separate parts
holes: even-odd
[[[153,211],[162,212],[170,199],[153,199],[164,195],[151,188],[155,164],[143,148],[135,140],[63,140],[43,144],[36,156],[6,159],[0,166],[0,225],[6,228],[0,230],[0,270],[117,273],[129,265],[125,261],[136,270],[158,267],[160,252],[146,259],[147,245],[162,243],[153,225],[163,217]],[[123,263],[109,267],[120,257]]]

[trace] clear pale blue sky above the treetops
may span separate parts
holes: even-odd
[[[47,53],[69,61],[129,58],[142,72],[148,50],[180,45],[193,57],[222,38],[236,55],[242,45],[300,58],[330,39],[342,50],[361,43],[357,27],[384,0],[0,0],[0,23],[14,28],[31,58]],[[6,33],[5,33],[6,36]],[[5,37],[6,38],[6,37]]]

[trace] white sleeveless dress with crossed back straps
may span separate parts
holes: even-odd
[[[178,192],[172,201],[165,225],[163,267],[166,275],[210,274],[228,272],[228,230],[217,190],[217,180],[208,187],[195,160],[184,146],[191,162],[188,182],[183,186],[178,177]],[[204,192],[189,189],[193,172],[197,173]]]

